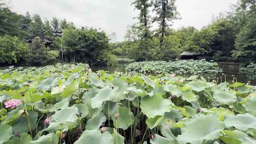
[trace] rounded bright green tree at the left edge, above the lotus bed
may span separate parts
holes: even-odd
[[[22,63],[27,53],[27,43],[17,36],[0,36],[0,63]]]

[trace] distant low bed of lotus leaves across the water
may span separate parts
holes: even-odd
[[[204,60],[183,61],[149,61],[130,63],[126,66],[128,72],[150,72],[150,73],[174,73],[177,75],[216,75],[222,70],[218,63],[210,63]]]

